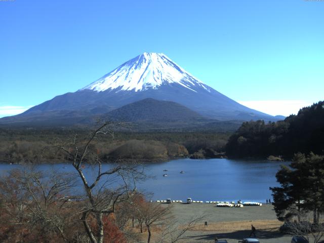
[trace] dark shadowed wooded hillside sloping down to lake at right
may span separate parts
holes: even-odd
[[[294,153],[323,154],[324,101],[299,110],[276,123],[249,121],[230,136],[226,154],[232,157],[292,158]]]

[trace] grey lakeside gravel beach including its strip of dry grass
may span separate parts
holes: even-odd
[[[279,233],[282,224],[276,219],[272,205],[246,206],[243,208],[217,208],[215,204],[161,204],[171,207],[179,224],[185,224],[192,217],[205,216],[193,230],[187,232],[186,242],[214,242],[227,239],[229,243],[247,238],[251,232],[251,224],[256,227],[256,235],[260,242],[291,242],[291,235]],[[208,226],[205,226],[205,221]]]

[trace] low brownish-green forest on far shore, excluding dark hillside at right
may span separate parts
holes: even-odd
[[[13,164],[60,163],[64,154],[49,147],[72,146],[89,137],[89,130],[0,129],[0,161]],[[93,149],[106,162],[117,160],[163,161],[181,157],[215,157],[225,151],[230,133],[219,132],[116,132],[99,136]],[[81,144],[82,145],[82,144]]]

